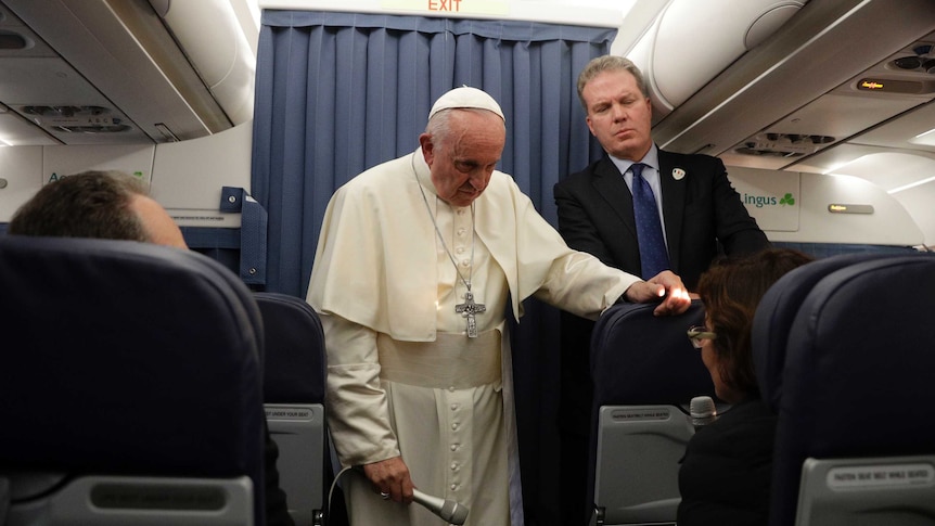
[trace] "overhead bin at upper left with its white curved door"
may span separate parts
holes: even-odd
[[[0,51],[22,74],[0,102],[55,142],[174,142],[253,116],[255,57],[229,1],[0,0],[0,13],[27,42]]]

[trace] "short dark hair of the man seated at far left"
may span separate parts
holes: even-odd
[[[57,238],[149,241],[135,196],[142,181],[120,171],[84,171],[42,187],[10,221],[8,233]]]

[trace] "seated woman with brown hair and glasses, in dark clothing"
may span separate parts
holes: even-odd
[[[689,330],[718,398],[731,405],[689,441],[679,471],[678,525],[766,525],[776,415],[760,399],[753,368],[753,316],[766,291],[811,256],[770,248],[715,264],[699,295],[705,325]]]

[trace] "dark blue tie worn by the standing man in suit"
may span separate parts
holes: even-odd
[[[642,278],[649,280],[669,268],[669,257],[656,198],[650,183],[643,179],[644,167],[644,164],[636,163],[630,168],[633,170],[633,219],[637,221],[637,240],[640,243],[640,266]]]

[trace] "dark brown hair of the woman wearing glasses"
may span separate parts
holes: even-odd
[[[717,334],[712,344],[721,382],[731,390],[744,396],[759,395],[751,344],[756,307],[777,280],[811,260],[811,256],[791,248],[768,248],[719,260],[702,274],[699,295],[705,306],[708,330]]]

